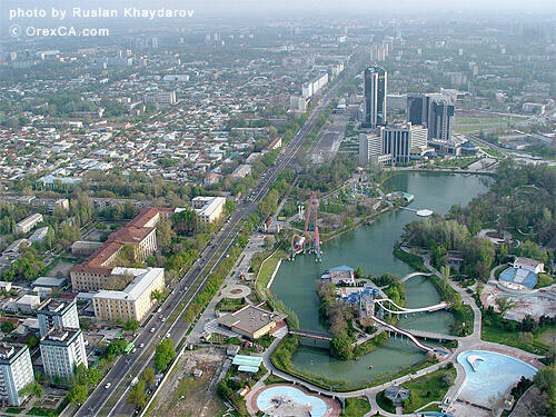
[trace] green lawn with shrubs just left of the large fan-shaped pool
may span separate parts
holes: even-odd
[[[404,384],[411,391],[410,401],[404,405],[404,413],[414,411],[430,401],[441,401],[449,388],[444,381],[445,375],[451,375],[451,380],[455,380],[456,369],[438,369]]]

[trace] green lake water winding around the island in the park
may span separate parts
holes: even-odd
[[[431,209],[446,214],[456,203],[465,206],[471,198],[487,190],[487,179],[477,176],[406,172],[390,178],[389,190],[406,191],[415,196],[409,205],[414,209]],[[375,225],[363,226],[322,246],[322,262],[315,257],[298,256],[286,261],[274,280],[272,292],[288,305],[299,317],[300,327],[326,331],[318,318],[318,299],[315,281],[325,269],[339,265],[360,267],[365,274],[384,272],[404,276],[413,272],[406,264],[391,254],[396,240],[400,239],[404,225],[417,220],[413,211],[396,210],[381,216]],[[406,281],[406,306],[423,307],[436,304],[439,297],[433,285],[424,277]],[[448,332],[453,324],[449,312],[437,311],[417,315],[400,320],[400,326],[410,329]],[[318,348],[300,347],[292,356],[298,369],[359,384],[371,380],[383,373],[395,373],[399,366],[409,366],[423,359],[424,353],[405,341],[388,341],[359,360],[340,361]],[[368,366],[373,365],[373,370]]]

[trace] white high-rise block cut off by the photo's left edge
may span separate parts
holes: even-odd
[[[19,407],[26,399],[21,390],[34,381],[33,366],[26,345],[0,345],[0,401]]]

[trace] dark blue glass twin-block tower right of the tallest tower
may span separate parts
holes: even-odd
[[[454,105],[441,93],[409,95],[407,119],[411,125],[424,125],[428,139],[450,140]]]

